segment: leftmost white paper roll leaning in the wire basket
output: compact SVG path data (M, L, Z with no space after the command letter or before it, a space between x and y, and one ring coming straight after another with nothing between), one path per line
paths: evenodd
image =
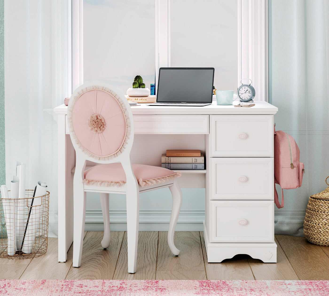
M8 237L7 253L9 256L14 256L17 250L15 237L15 203L14 200L9 199L8 189L6 185L1 185L0 190Z

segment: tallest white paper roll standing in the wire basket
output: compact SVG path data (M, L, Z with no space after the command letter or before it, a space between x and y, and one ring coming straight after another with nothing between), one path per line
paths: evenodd
M17 215L15 216L15 230L16 230L16 245L20 250L22 240L24 237L24 230L26 221L24 220L24 198L25 198L25 170L26 164L23 162L16 162L16 178L19 181L18 198L22 200L15 200L15 209ZM14 179L14 180L17 180Z

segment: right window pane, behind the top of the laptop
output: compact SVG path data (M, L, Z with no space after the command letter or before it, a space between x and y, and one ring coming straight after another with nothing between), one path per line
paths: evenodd
M216 89L236 90L238 2L170 2L170 66L214 67Z

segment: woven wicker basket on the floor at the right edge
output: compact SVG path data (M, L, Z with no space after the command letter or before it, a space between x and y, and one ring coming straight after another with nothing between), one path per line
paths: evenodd
M311 243L329 246L329 186L310 196L304 220L304 235Z

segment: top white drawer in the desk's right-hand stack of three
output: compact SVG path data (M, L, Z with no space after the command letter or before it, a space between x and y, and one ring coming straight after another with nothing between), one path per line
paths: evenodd
M273 115L211 115L210 139L211 157L273 157Z

